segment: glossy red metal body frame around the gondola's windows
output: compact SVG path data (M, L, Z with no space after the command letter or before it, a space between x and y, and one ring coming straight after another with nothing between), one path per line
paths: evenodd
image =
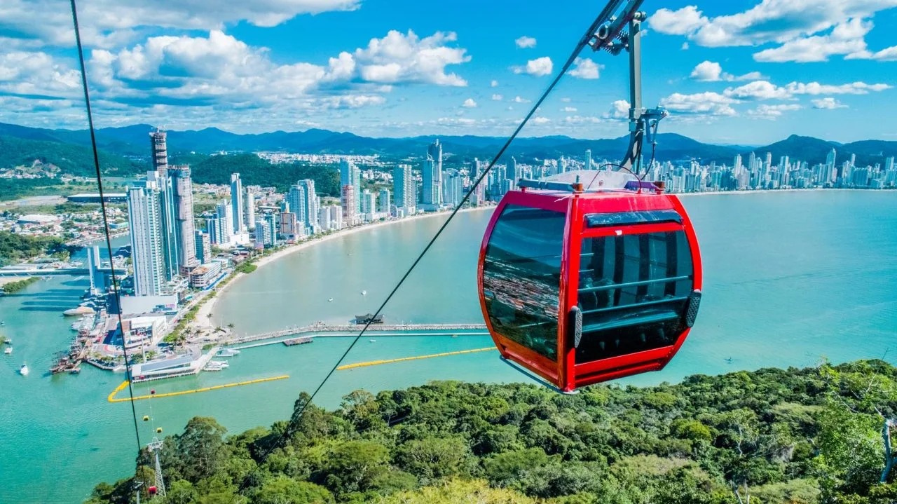
M508 204L517 204L529 208L540 208L566 215L563 234L561 284L559 285L558 303L558 360L552 361L543 355L528 349L498 333L486 311L483 294L483 264L486 249L489 245L492 230L501 212ZM596 229L584 229L585 215L588 213L621 213L631 211L675 210L682 217L678 223L640 223L621 226L610 226ZM576 363L576 349L568 340L568 314L577 306L579 290L579 256L583 238L642 234L646 232L665 232L684 230L685 237L692 250L693 289L701 289L701 253L698 239L692 223L685 213L684 206L676 196L658 195L649 192L601 191L591 193L567 193L558 191L511 191L505 195L492 214L480 247L480 260L477 268L480 307L483 318L501 355L530 369L563 391L571 391L593 383L614 378L623 378L646 371L663 369L685 341L689 329L678 335L675 343L644 352L624 354L600 361Z

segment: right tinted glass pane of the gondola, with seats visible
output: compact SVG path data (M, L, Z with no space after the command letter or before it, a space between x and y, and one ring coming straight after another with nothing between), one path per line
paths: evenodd
M577 362L675 343L694 285L683 231L583 239L581 254Z

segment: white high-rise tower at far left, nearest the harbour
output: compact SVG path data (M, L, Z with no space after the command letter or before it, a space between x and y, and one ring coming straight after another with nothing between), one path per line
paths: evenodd
M138 296L162 294L165 254L162 243L161 194L156 181L127 191L127 219L131 234L134 291Z

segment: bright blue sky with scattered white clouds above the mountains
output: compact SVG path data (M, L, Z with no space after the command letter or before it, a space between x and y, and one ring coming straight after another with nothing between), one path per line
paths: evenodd
M86 124L61 5L0 5L0 121ZM602 6L81 0L79 14L99 127L508 135ZM661 131L710 143L897 140L897 0L646 0L642 10L644 104L671 113ZM581 56L524 135L626 133L627 58Z

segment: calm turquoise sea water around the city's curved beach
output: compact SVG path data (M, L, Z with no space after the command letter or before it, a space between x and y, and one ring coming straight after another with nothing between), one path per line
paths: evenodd
M623 380L653 384L736 369L814 365L823 358L897 362L897 192L807 191L685 196L701 240L701 315L675 360L662 372ZM481 323L476 256L489 211L460 213L384 313L391 322ZM231 286L213 320L238 333L344 322L374 311L443 222L400 222L332 239L287 256ZM121 374L88 366L80 376L50 377L53 352L71 338L65 308L86 279L54 278L0 299L0 502L80 502L101 480L133 474L135 430L128 403L106 397ZM366 296L361 291L367 291ZM334 298L329 302L328 298ZM372 335L345 362L426 355L491 346L488 336ZM290 375L269 383L135 403L141 442L152 424L176 433L196 415L231 432L286 418L301 391L311 391L351 342L248 349L220 373L135 387L135 394L185 390ZM731 359L731 361L727 361ZM16 370L27 361L31 374ZM497 352L476 352L336 371L318 395L333 408L356 388L372 392L432 379L526 380ZM120 395L124 396L124 395ZM152 423L152 424L151 424Z

